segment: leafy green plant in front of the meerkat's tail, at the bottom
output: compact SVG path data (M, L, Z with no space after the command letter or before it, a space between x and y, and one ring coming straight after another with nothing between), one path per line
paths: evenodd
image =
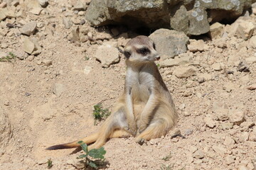
M97 169L100 162L105 161L104 155L106 154L106 151L104 147L100 147L99 149L91 149L88 151L88 147L85 144L85 142L79 141L78 144L82 147L82 150L85 152L85 154L81 154L78 157L78 159L84 159L86 167L90 166L94 169Z

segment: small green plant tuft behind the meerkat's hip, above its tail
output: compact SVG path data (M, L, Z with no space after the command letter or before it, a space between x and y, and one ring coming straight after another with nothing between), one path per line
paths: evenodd
M92 114L95 119L95 125L96 125L97 121L104 120L111 114L107 108L105 108L105 109L102 108L101 103L97 103L97 105L93 106L93 108L94 108L94 110L93 110Z

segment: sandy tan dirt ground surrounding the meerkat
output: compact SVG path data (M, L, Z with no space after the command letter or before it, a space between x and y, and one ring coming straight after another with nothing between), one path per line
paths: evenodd
M102 35L102 28L85 23L83 26L93 36L102 38L73 42L70 31L75 26L66 29L62 18L67 12L81 20L82 16L68 8L63 12L62 8L62 4L49 1L39 16L26 11L25 21L44 23L43 28L38 28L38 33L45 35L38 40L41 53L0 62L0 106L12 128L8 144L0 149L0 169L47 169L48 159L53 161L53 170L82 168L76 159L81 151L48 151L46 147L96 132L102 123L94 125L93 106L102 102L112 111L124 91L124 57L121 55L121 61L109 68L102 68L93 57L103 41L124 38ZM24 19L1 21L2 30L14 32L0 35L1 52L23 52L26 35L15 34L18 28L6 28L6 23L15 20ZM252 14L250 20L255 22L256 16ZM142 146L134 142L134 137L109 140L104 146L104 169L256 169L256 91L247 89L256 83L256 62L247 64L249 72L238 71L239 63L255 57L256 50L250 47L249 40L235 36L221 41L206 38L204 43L208 47L202 52L183 54L191 55L189 64L196 69L196 76L178 79L172 74L186 65L159 68L178 109L176 128ZM44 60L52 64L46 66ZM221 63L220 70L213 69L214 63ZM58 94L53 94L54 86ZM241 111L244 118L240 123L231 123L230 115L219 120L215 103L225 104L231 115ZM217 111L223 111L219 107ZM209 128L206 118L213 128ZM176 130L186 138L171 138Z

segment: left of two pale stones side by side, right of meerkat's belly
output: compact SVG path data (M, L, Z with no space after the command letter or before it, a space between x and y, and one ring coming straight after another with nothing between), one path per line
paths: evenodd
M225 103L213 103L213 113L217 120L228 120L228 105Z

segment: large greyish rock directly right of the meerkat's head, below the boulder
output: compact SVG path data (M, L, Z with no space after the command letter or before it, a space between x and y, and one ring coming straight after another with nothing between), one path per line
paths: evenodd
M156 44L156 51L160 55L167 55L170 58L186 52L188 37L176 30L159 29L149 35Z

